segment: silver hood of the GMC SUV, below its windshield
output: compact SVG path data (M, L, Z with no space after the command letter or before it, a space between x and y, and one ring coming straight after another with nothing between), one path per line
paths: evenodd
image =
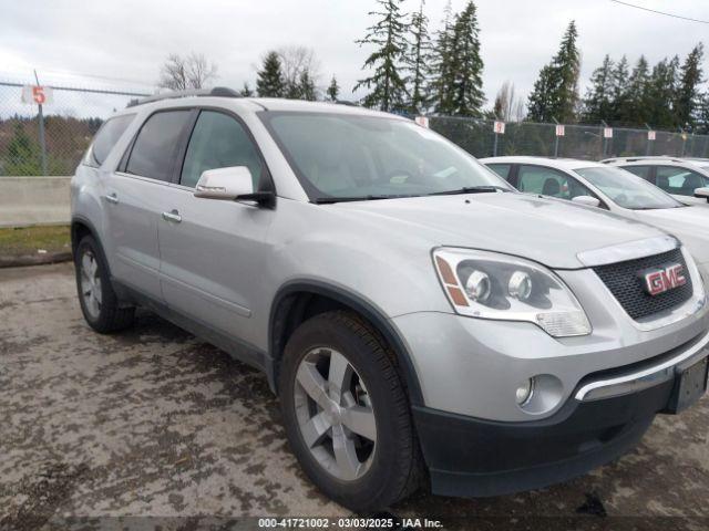
M431 247L483 249L549 268L578 269L580 251L662 236L658 229L594 207L525 194L429 196L329 205L381 230Z

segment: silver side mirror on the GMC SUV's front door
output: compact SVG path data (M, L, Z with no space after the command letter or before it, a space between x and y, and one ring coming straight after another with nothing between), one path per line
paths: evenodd
M207 169L203 171L195 197L226 201L256 201L268 208L276 206L276 195L271 191L254 191L254 178L246 166Z

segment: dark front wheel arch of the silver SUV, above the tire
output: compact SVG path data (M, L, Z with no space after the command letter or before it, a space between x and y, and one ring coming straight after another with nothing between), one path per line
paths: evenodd
M411 355L401 334L386 314L372 302L350 290L315 280L287 282L274 298L268 322L268 352L273 364L269 376L276 392L286 343L295 329L311 316L307 313L311 304L320 305L322 311L349 310L362 317L395 355L411 404L423 405L423 395ZM316 313L320 312L316 309Z

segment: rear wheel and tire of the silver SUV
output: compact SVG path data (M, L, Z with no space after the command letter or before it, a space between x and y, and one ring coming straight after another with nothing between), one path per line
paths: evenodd
M93 330L107 334L133 323L135 308L121 305L103 252L92 236L84 236L76 246L74 270L81 312Z

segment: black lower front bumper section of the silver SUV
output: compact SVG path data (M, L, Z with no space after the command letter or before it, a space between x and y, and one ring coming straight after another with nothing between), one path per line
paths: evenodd
M702 350L691 360L707 355ZM679 377L613 398L568 400L552 417L499 423L414 407L432 490L489 497L580 476L635 446L657 413L674 407Z

